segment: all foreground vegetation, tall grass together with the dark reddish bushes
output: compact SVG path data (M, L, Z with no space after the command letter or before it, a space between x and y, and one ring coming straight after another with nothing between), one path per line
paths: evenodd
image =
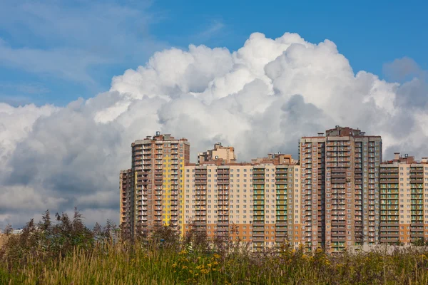
M46 212L22 234L8 234L0 284L428 284L424 247L329 255L284 244L252 253L196 229L180 239L155 227L132 241L114 239L115 232L111 222L88 229L77 211L54 221Z

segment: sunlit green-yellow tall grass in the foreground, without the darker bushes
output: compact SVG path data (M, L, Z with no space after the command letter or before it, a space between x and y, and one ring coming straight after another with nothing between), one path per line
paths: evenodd
M189 252L146 244L76 247L66 257L0 266L1 284L428 284L428 252L406 249L329 256L279 252Z

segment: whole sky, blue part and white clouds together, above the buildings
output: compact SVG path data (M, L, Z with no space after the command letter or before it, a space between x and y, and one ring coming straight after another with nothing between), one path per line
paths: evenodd
M302 135L334 125L382 135L386 159L427 156L427 7L0 0L0 102L41 106L0 104L0 227L46 207L78 207L89 224L117 221L129 146L157 130L188 138L192 160L214 142L235 147L240 161L277 151L297 157ZM255 32L267 38L253 35L238 56L210 49L236 51ZM310 44L325 39L345 57L329 41ZM190 43L210 48L165 51ZM123 75L156 51L150 66ZM105 92L114 76L115 92Z

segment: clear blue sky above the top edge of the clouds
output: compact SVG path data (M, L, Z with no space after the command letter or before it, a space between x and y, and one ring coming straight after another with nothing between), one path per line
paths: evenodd
M250 33L335 42L354 71L404 56L428 69L424 1L0 0L0 101L66 105L108 90L155 51L240 48Z

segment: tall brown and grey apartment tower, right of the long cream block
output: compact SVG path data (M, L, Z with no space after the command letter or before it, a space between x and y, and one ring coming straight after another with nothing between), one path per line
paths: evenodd
M336 126L301 138L299 156L307 248L339 251L379 242L382 138Z

